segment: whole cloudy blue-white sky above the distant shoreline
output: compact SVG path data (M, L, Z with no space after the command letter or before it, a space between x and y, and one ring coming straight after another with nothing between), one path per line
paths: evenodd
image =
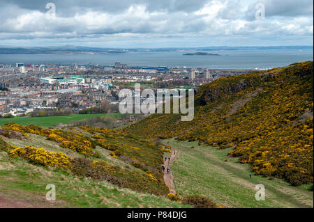
M0 45L313 45L313 0L0 0Z

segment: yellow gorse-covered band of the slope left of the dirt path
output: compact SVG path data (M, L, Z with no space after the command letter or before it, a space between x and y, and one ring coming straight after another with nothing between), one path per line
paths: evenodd
M86 126L61 130L35 125L22 126L10 122L3 126L3 131L9 145L2 150L6 150L10 157L21 157L33 164L63 168L74 175L110 181L119 187L142 193L162 196L169 193L161 170L163 147L153 141L113 129ZM29 136L30 134L42 136L47 141L57 143L59 149L63 148L80 156L73 158L72 155L60 152L47 143L36 147L38 143L33 143L33 136ZM19 140L30 140L31 143L16 147L9 141L12 138L15 138L15 144ZM120 161L109 163L108 156Z

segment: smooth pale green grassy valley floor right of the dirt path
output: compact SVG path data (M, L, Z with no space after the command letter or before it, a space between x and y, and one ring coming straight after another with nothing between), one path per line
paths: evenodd
M237 158L227 157L232 148L217 150L197 142L178 142L174 138L163 143L180 150L171 170L174 188L181 196L207 196L225 207L313 207L310 184L292 187L283 180L269 180L253 173L250 179L248 164L240 164ZM255 200L257 184L264 184L264 201Z

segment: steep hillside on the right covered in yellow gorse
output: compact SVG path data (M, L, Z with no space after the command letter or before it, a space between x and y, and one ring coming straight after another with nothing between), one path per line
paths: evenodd
M257 175L313 183L313 62L218 79L197 88L195 117L154 114L125 132L199 141L251 164Z

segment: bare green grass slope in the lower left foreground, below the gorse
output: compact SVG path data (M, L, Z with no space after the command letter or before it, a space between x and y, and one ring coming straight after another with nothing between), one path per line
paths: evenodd
M55 201L45 200L47 184L56 186ZM10 200L15 207L190 207L162 196L12 159L6 152L0 152L0 198Z

